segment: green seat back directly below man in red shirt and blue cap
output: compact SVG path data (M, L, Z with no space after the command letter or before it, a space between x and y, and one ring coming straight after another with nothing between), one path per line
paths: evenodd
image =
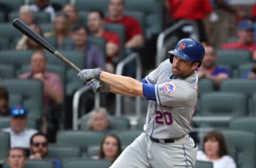
M250 63L251 52L239 49L219 49L217 50L217 64L230 65L237 69L240 64Z

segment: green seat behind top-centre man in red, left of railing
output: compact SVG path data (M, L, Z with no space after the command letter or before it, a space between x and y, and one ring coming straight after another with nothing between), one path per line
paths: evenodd
M151 38L163 30L163 1L155 0L125 0L127 11L140 11L145 14L145 37Z

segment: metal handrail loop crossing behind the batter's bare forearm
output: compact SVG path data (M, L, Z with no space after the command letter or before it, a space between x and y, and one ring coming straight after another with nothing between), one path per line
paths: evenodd
M119 62L116 66L116 74L122 75L123 73L123 69L124 66L135 60L136 61L136 74L135 74L135 78L137 80L141 79L141 73L142 73L142 65L141 65L141 61L140 61L140 57L138 53L132 53L129 56L127 56L126 58L124 58L124 60L122 60L121 62ZM122 109L122 101L121 101L122 96L116 94L116 116L121 116L121 109ZM135 112L136 115L140 116L141 114L141 98L139 96L136 97L135 100Z

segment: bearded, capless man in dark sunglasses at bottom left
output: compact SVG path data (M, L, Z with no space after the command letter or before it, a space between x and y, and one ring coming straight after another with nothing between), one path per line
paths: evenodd
M61 162L56 158L47 158L48 139L44 133L35 133L30 138L30 159L49 159L55 164L55 168L61 168Z

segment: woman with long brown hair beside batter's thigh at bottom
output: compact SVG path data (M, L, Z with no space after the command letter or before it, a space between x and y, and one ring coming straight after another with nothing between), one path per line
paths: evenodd
M122 147L119 138L114 134L107 134L101 141L99 155L92 158L114 162L121 152Z

